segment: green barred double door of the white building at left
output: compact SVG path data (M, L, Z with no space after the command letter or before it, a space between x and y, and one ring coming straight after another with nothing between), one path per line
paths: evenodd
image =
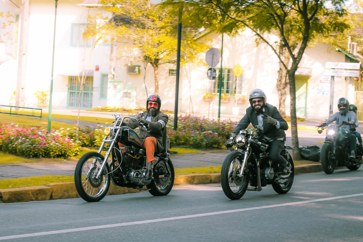
M68 80L67 108L78 108L80 82L77 76L70 76ZM81 108L92 108L93 77L86 77L81 94Z

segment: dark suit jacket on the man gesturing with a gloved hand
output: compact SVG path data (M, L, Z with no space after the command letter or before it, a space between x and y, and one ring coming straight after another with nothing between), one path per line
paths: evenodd
M289 126L287 125L286 121L282 118L277 108L271 104L266 103L264 113L276 119L280 123L280 128L277 128L273 124L264 121L262 124L264 128L263 135L271 139L279 139L286 141L286 134L284 130L287 130ZM240 131L247 128L250 123L253 125L254 128L258 126L257 114L254 111L254 108L252 107L248 107L246 109L246 115L243 116L241 121L238 123L236 130L234 130L234 132L236 132L236 134L239 134Z

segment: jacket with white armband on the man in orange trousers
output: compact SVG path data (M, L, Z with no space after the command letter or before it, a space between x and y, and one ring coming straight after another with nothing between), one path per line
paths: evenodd
M147 118L147 111L143 112L142 114L139 114L138 116L138 119L146 120L146 118ZM166 124L168 123L168 120L169 120L168 115L158 111L158 113L155 116L151 117L151 121L149 122L147 131L140 129L139 137L141 139L141 142L144 143L146 137L155 137L156 141L158 141L158 149L159 151L162 151L164 149L163 134L166 131ZM125 126L135 129L139 127L139 123L132 121L125 122Z

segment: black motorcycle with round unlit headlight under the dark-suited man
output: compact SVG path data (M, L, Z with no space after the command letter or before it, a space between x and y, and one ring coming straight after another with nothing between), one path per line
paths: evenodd
M293 148L285 145L281 151L281 155L291 164L290 176L282 178L282 168L269 158L269 141L258 136L257 129L249 132L241 130L234 136L235 148L229 148L231 153L223 161L221 185L224 194L231 200L240 199L246 190L259 192L262 186L268 184L272 185L275 192L285 194L293 185L294 161L287 151Z

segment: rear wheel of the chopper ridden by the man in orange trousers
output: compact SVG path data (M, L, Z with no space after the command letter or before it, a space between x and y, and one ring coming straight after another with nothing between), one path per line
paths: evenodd
M171 160L167 159L167 166L171 174L167 175L167 169L163 160L159 160L154 164L154 180L146 187L152 196L165 196L170 193L174 185L174 165Z

